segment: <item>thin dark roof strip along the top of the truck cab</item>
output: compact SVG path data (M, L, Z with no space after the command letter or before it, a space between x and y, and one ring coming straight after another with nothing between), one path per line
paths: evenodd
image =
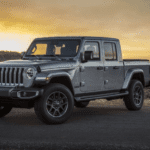
M43 37L43 38L36 38L35 40L51 40L51 39L85 39L85 40L112 40L112 41L119 41L117 38L110 38L110 37L94 37L94 36L61 36L61 37Z

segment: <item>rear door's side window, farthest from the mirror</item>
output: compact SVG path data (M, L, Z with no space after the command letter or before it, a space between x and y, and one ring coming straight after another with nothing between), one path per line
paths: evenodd
M105 60L117 60L116 44L104 43Z

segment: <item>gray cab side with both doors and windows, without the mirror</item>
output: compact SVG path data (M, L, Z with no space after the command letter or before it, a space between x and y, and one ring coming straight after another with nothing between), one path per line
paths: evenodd
M81 91L120 90L124 82L123 60L119 40L87 38L81 52L93 51L93 59L81 61Z

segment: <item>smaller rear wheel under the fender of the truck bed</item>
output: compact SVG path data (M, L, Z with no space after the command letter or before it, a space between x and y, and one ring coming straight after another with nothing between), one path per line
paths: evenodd
M129 95L124 97L124 102L128 110L140 110L143 106L144 91L139 80L132 80L128 88Z

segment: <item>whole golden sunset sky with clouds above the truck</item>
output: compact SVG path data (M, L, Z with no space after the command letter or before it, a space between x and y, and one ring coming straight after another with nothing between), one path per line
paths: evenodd
M118 38L123 58L150 60L150 0L0 0L0 50L72 35Z

